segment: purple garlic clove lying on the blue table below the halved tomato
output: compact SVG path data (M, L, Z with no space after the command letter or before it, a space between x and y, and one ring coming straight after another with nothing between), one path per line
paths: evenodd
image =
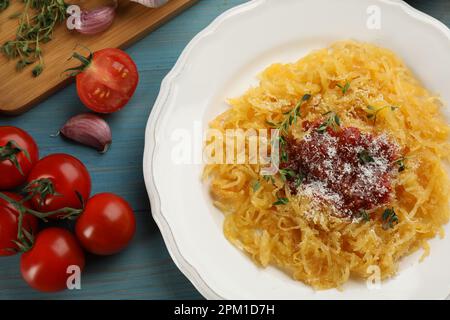
M60 133L70 140L95 148L101 153L108 151L112 143L108 123L93 113L82 113L70 118L61 128Z

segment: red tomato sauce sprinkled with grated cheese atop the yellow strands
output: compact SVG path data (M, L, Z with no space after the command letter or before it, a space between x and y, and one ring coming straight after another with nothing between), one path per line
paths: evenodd
M327 128L305 122L302 140L287 140L287 161L281 169L293 194L303 193L332 205L336 215L351 217L386 204L392 192L398 146L386 135L363 133L358 128ZM298 183L301 177L301 183Z

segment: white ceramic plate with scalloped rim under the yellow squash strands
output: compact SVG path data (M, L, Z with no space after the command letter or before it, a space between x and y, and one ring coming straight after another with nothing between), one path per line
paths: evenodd
M206 298L443 299L449 294L450 237L431 241L431 256L423 263L418 255L404 259L398 275L379 289L350 281L343 291L315 292L275 268L260 269L224 238L222 213L200 180L203 165L173 161L183 134L191 136L190 156L201 155L208 121L226 110L227 97L256 83L265 67L345 39L392 49L448 105L449 29L392 0L250 1L198 34L164 79L146 131L145 181L173 260Z

